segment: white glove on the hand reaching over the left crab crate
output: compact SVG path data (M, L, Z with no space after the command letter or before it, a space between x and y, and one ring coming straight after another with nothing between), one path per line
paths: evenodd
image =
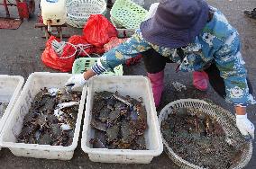
M84 74L78 74L71 76L65 85L66 87L69 87L71 90L74 90L79 87L83 87L86 83L87 80L84 78Z

